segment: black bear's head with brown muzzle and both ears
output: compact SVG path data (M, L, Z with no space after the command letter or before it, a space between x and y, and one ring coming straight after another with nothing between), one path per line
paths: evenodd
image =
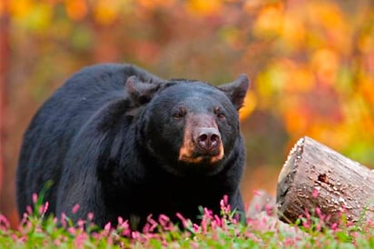
M144 105L140 143L169 173L217 174L241 146L238 111L248 86L246 75L218 87L189 80L147 84L130 77L127 91Z

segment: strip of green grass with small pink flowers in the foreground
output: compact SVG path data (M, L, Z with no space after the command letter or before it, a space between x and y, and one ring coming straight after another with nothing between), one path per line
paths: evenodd
M98 229L92 214L75 225L64 216L57 225L55 217L44 217L46 208L29 209L18 229L0 214L0 248L374 248L374 223L329 227L324 216L306 215L288 225L264 212L243 225L222 205L221 216L202 210L201 224L181 215L182 230L164 215L150 216L140 233L121 218L115 227Z

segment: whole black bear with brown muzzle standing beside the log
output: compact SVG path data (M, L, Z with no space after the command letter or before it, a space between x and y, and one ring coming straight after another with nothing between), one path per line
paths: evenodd
M119 216L136 226L149 214L175 221L180 213L196 222L199 206L219 214L223 195L243 212L238 110L248 86L246 75L215 87L163 80L134 65L84 68L25 132L16 175L19 214L48 181L47 214L64 213L74 222L89 213L100 226Z

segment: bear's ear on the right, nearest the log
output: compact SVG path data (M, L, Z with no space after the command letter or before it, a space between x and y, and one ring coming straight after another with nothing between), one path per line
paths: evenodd
M232 104L239 110L244 103L249 85L250 81L248 80L248 76L243 74L235 81L226 85L220 85L218 88L231 99Z

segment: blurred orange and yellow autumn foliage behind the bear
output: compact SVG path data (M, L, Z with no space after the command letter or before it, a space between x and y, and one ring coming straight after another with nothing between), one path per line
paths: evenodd
M101 62L213 84L250 75L241 110L247 202L251 189L275 188L290 146L305 134L374 166L372 1L3 0L0 15L9 41L1 44L0 212L14 220L26 125L64 79Z

